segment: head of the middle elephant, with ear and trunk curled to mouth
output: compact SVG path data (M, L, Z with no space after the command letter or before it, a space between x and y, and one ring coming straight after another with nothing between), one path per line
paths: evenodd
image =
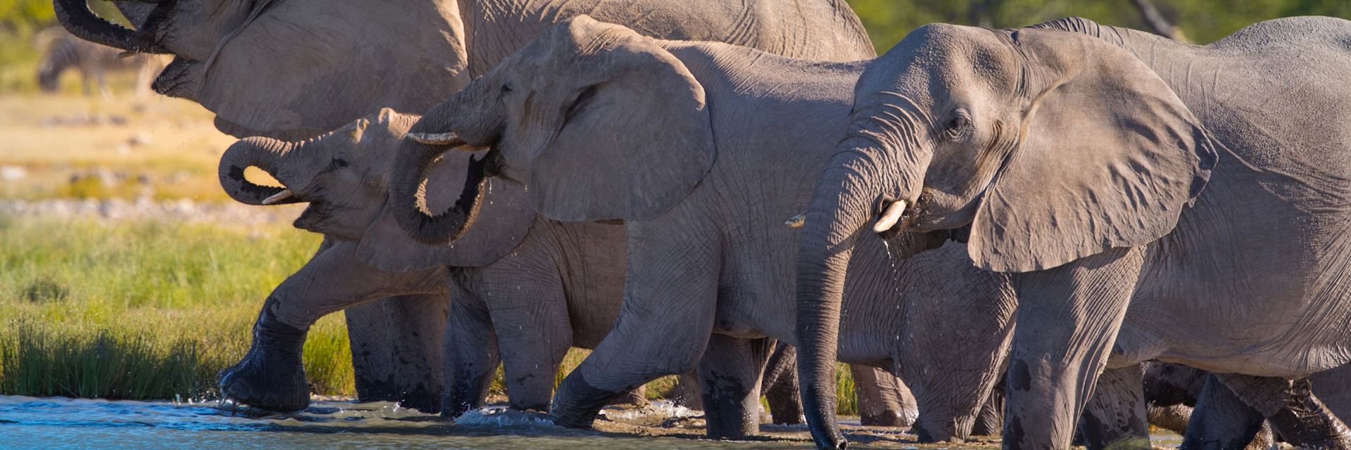
M661 124L661 126L653 126ZM704 89L655 39L577 16L432 108L399 151L389 207L424 243L469 226L428 215L428 162L492 146L500 173L530 186L544 216L642 220L685 197L713 164Z

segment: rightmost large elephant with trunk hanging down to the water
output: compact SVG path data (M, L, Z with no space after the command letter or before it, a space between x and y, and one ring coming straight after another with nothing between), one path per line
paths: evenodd
M1351 361L1351 89L1331 76L1351 70L1348 39L1332 18L1208 46L1084 19L929 24L874 59L798 241L816 445L844 445L827 366L869 224L961 235L975 266L1011 277L1009 449L1067 447L1098 374L1148 359L1231 374L1239 404L1296 426L1282 411L1313 397L1289 380Z

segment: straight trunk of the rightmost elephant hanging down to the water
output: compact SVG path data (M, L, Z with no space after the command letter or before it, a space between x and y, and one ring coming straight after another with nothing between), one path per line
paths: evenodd
M838 154L816 185L798 236L797 370L807 424L820 449L846 445L835 418L835 353L854 236L878 193L877 178L865 173L875 172L863 153Z

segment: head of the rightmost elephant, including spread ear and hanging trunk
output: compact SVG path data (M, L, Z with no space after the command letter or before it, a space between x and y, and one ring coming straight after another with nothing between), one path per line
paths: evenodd
M834 362L861 228L967 228L971 259L996 272L1144 245L1209 178L1198 123L1132 54L1079 34L929 24L871 62L798 241L798 370L817 445L844 443Z

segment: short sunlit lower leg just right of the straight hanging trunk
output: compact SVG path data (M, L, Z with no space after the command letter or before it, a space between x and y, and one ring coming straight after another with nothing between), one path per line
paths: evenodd
M907 427L913 424L915 397L889 372L850 365L854 395L858 397L859 422L873 427Z

